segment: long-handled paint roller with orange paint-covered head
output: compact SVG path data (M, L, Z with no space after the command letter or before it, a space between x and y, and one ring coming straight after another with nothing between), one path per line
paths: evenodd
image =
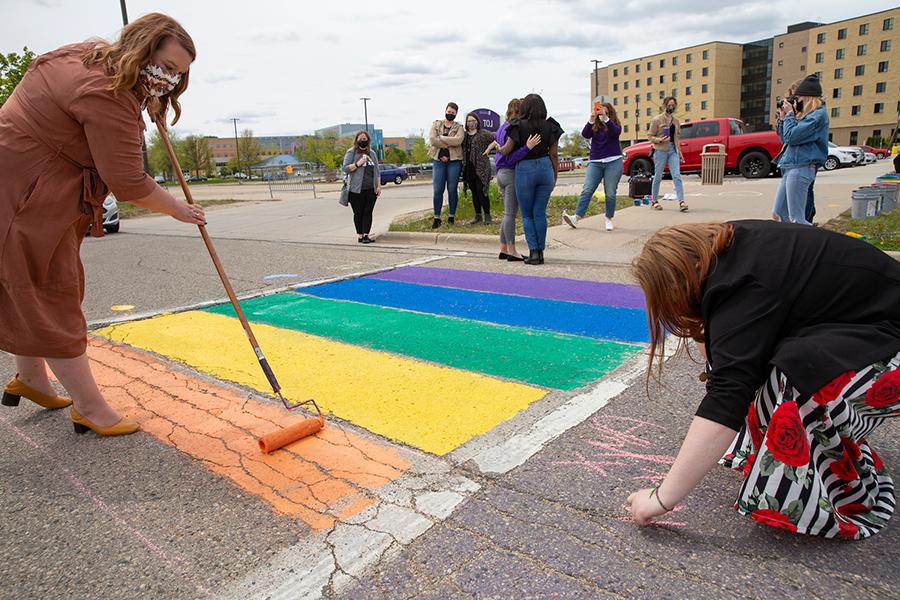
M169 140L169 133L166 130L166 126L163 124L162 119L154 118L154 121L156 123L156 129L157 131L159 131L159 137L166 148L166 154L169 155L169 161L172 163L172 168L175 169L175 175L178 177L178 183L181 184L181 189L184 192L184 197L187 200L188 204L194 204L194 197L191 195L191 190L188 187L187 182L184 180L184 174L181 172L181 165L178 163L178 157L175 156L175 150L174 148L172 148L172 142ZM302 421L294 423L293 425L285 427L284 429L280 429L262 436L259 439L260 450L268 454L269 452L278 450L279 448L282 448L292 442L296 442L297 440L318 433L322 430L323 427L325 427L325 417L322 415L322 411L321 409L319 409L319 405L316 404L316 401L312 398L310 398L309 400L304 400L302 402L289 402L281 394L281 385L278 383L278 379L275 378L275 373L272 371L272 367L269 366L269 362L266 360L265 355L259 348L259 342L256 341L256 336L253 335L253 330L250 329L250 322L247 321L247 316L244 314L240 302L238 302L237 296L234 293L234 288L231 287L231 282L228 280L228 276L225 274L225 269L222 267L222 263L219 261L219 255L216 253L216 249L213 246L212 239L209 237L209 233L206 231L206 226L197 225L197 227L200 229L200 236L203 238L203 243L206 244L206 249L209 251L209 257L212 259L213 265L215 265L216 267L216 272L219 274L219 279L222 280L222 285L225 287L225 292L228 294L228 299L231 301L231 306L234 308L234 312L237 314L237 317L244 328L244 333L247 334L247 339L250 341L250 345L253 347L253 353L256 355L256 359L259 361L259 366L263 370L263 373L266 375L266 379L269 380L269 385L272 386L272 392L278 397L279 400L281 400L281 403L287 410L293 410L295 408L308 405L312 405L312 407L316 410L316 417L303 419Z

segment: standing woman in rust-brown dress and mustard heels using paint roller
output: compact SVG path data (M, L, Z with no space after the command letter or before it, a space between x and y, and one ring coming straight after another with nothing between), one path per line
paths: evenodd
M123 435L138 424L103 399L85 350L79 248L91 226L103 235L103 200L204 223L203 209L175 199L143 171L145 108L175 121L178 96L196 58L188 33L172 18L146 15L115 43L64 46L31 64L0 107L0 350L15 355L16 377L3 394L45 408L74 402L75 431ZM57 396L49 364L71 399Z

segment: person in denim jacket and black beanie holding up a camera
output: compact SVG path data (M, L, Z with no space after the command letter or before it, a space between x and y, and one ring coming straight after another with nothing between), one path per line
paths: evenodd
M822 84L815 75L788 89L782 100L778 135L783 144L775 163L781 184L775 193L772 218L783 223L811 225L806 216L809 188L816 171L828 158L828 114L822 102Z

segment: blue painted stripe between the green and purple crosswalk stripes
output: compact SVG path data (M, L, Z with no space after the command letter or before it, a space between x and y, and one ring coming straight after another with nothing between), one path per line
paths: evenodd
M299 288L294 291L319 298L350 300L591 338L625 342L647 342L650 339L646 313L634 308L365 278Z

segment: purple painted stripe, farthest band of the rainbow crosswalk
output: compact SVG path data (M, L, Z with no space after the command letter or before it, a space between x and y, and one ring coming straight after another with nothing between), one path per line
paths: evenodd
M372 279L401 281L420 285L510 294L528 298L600 304L622 308L644 308L644 293L636 285L600 283L561 277L507 275L436 267L403 267L369 275Z

